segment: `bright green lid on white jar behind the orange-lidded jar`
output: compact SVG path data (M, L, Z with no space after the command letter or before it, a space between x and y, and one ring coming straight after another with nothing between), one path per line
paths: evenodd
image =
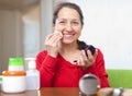
M16 58L9 58L9 65L23 65L24 60L23 58L16 57Z

